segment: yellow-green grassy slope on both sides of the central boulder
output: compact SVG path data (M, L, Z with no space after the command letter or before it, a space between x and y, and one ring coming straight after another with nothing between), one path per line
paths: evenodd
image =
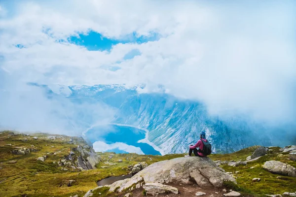
M82 197L88 190L96 187L96 181L109 176L118 176L128 174L128 165L134 165L139 162L146 162L152 164L158 161L173 159L177 157L183 157L184 154L171 154L165 156L149 156L149 155L137 155L137 154L114 154L114 153L98 153L103 162L114 163L115 165L108 165L104 163L97 164L97 169L87 170L81 172L64 172L56 164L52 164L53 161L58 161L66 155L69 155L71 148L77 145L68 144L68 136L63 136L63 140L48 140L46 134L34 134L38 136L37 140L32 136L23 136L21 134L16 136L8 136L8 132L0 133L0 196L13 197L13 196L25 196L28 197L69 197L78 195ZM9 138L8 138L9 137ZM27 138L28 141L22 141ZM78 138L72 137L75 141ZM13 146L5 146L5 144L11 143ZM83 143L83 142L81 142ZM21 146L30 148L31 144L35 148L40 149L38 152L33 152L30 155L13 155L10 153L13 147ZM47 145L47 146L46 146ZM51 147L54 146L54 147ZM241 151L225 154L225 155L211 155L213 160L244 160L247 156L255 150L256 147L250 147ZM268 160L278 160L287 164L291 164L296 167L296 162L292 162L288 159L287 154L279 154L279 148L273 148L273 153L268 154L258 161L247 164L246 166L229 167L223 165L226 171L235 172L240 171L235 176L237 177L237 183L242 189L249 189L254 195L262 194L282 194L283 192L296 192L296 178L283 177L283 179L277 179L278 175L271 174L264 170L261 165ZM45 155L49 152L61 151L56 156L50 155L44 163L36 161L37 157ZM112 159L108 157L114 154ZM151 158L151 160L150 160ZM123 160L122 163L118 163L118 160ZM7 162L16 160L16 164L8 164ZM102 168L102 166L108 166ZM256 166L254 169L250 169L251 166ZM261 173L262 172L262 173ZM259 175L261 173L261 175ZM253 178L261 178L260 182L252 182ZM68 187L65 182L68 180L75 180L72 187ZM293 190L294 189L294 190ZM101 189L101 190L104 190ZM101 191L100 190L100 191ZM102 193L103 191L101 191Z

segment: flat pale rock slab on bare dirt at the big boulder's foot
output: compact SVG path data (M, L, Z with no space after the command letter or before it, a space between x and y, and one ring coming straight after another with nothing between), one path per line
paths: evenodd
M146 194L158 195L166 192L171 192L173 194L178 194L178 189L168 185L162 185L160 183L147 183L143 186Z

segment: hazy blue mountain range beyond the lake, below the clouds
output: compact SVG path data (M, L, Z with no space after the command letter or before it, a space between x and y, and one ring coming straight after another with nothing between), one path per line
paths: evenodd
M76 105L105 105L113 111L111 123L147 129L148 140L158 146L162 154L186 152L188 145L199 139L200 131L206 131L216 153L229 153L255 144L287 145L291 142L289 140L293 140L285 136L291 128L268 128L243 115L228 118L211 116L203 103L165 93L139 94L137 90L144 87L60 86L53 92L43 86L48 90L49 98L71 100L74 112L67 119L74 128L87 129L99 121L89 108Z

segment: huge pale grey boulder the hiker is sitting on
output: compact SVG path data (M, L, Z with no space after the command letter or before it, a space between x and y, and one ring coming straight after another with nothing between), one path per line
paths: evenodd
M218 167L208 157L188 157L166 160L149 165L132 178L116 181L107 187L110 192L121 192L132 188L134 184L148 183L185 183L193 184L195 180L199 187L222 187L223 181L235 179Z

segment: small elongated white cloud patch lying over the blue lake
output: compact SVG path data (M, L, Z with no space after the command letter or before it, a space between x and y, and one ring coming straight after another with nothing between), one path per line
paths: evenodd
M93 143L94 150L96 152L106 152L113 149L119 149L128 153L137 153L139 155L144 155L143 151L139 147L128 145L122 142L115 142L112 144L107 144L103 141L96 141Z

